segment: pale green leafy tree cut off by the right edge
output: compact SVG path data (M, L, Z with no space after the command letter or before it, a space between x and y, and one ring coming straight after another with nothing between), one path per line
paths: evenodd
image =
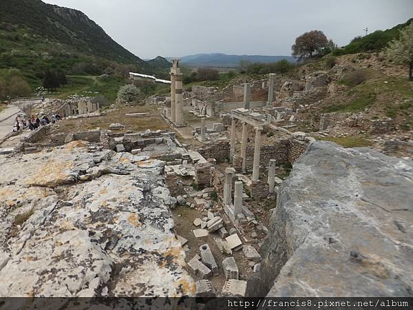
M413 81L413 23L400 31L399 39L391 41L385 52L388 59L409 66L409 79Z

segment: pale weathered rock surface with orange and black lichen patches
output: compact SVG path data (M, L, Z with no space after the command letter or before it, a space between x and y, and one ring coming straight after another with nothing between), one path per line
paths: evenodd
M162 161L75 141L0 156L0 296L195 295Z

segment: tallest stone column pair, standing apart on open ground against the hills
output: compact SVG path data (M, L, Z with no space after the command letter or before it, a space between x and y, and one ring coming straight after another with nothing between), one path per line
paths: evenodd
M182 73L178 59L173 59L171 68L171 121L177 125L184 125L184 111L182 98Z

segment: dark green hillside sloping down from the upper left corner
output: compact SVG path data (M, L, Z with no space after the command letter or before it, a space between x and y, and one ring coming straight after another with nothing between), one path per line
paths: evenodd
M0 68L18 68L36 81L45 68L67 74L102 74L114 63L156 74L167 61L145 62L116 43L83 12L40 0L0 2Z

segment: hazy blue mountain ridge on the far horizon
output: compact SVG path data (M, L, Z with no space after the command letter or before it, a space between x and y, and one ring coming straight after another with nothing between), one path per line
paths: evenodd
M222 53L195 54L180 57L181 63L198 67L236 67L241 60L252 63L275 63L286 59L292 63L296 62L293 56L262 56L262 55L227 55Z

